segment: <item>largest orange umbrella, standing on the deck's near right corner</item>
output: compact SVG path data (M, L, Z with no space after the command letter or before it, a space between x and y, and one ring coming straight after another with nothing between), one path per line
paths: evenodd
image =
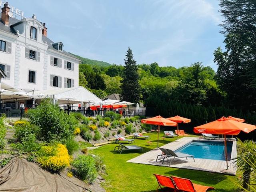
M229 118L222 117L210 123L206 123L197 127L194 127L195 133L210 133L210 134L222 134L224 135L224 145L225 145L225 158L228 170L228 152L227 152L227 141L226 135L238 135L241 131L249 133L256 129L255 125L242 123ZM230 171L224 171L230 172Z

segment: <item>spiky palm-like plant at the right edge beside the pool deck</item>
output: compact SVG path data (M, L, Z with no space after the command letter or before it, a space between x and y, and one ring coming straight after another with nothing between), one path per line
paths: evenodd
M242 142L238 139L238 145L240 146L240 155L236 157L236 166L239 170L243 172L242 183L240 189L245 191L250 191L251 179L256 180L255 176L251 178L251 173L256 170L256 142L252 140L246 140ZM251 188L255 189L255 186ZM255 190L253 190L255 191Z

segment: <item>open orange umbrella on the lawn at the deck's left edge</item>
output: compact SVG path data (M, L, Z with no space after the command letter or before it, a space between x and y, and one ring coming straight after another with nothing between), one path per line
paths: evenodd
M173 122L171 120L168 120L166 118L163 118L161 116L155 116L148 119L142 119L142 123L151 124L151 125L157 125L158 126L158 134L157 134L157 148L158 148L158 140L159 140L159 132L160 132L160 126L177 126L176 122Z

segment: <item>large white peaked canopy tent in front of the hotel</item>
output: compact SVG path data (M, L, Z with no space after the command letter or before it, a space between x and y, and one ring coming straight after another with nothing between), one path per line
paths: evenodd
M32 92L30 92L30 94L32 94ZM34 95L41 95L41 98L50 97L57 99L58 104L101 102L100 98L82 86L46 91L34 91Z

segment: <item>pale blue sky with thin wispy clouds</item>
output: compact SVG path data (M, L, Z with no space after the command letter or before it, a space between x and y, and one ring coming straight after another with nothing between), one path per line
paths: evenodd
M124 64L128 47L138 64L217 69L213 52L224 48L218 0L8 0L46 23L47 36L64 50Z

